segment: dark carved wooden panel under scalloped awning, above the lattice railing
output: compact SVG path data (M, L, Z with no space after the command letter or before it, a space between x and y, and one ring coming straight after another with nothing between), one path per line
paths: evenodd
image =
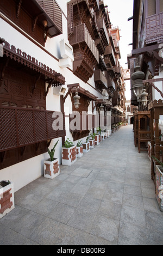
M3 63L1 62L0 71L3 69ZM38 78L38 74L30 74L10 60L0 88L0 105L46 109L45 78Z

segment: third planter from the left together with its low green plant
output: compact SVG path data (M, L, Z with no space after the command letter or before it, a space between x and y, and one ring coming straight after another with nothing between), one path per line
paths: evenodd
M69 138L62 145L62 165L71 166L77 161L77 146L73 145Z

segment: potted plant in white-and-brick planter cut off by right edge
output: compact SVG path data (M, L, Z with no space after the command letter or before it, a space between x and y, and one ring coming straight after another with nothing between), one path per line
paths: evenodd
M155 188L156 199L159 204L160 211L163 211L163 163L155 156L152 156L160 165L155 166Z

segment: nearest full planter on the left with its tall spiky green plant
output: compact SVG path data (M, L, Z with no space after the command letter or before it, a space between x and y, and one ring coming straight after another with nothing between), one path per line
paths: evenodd
M58 140L59 141L59 140ZM44 176L45 178L54 179L60 174L59 159L54 158L55 147L58 144L55 143L53 149L48 149L49 159L44 161Z

